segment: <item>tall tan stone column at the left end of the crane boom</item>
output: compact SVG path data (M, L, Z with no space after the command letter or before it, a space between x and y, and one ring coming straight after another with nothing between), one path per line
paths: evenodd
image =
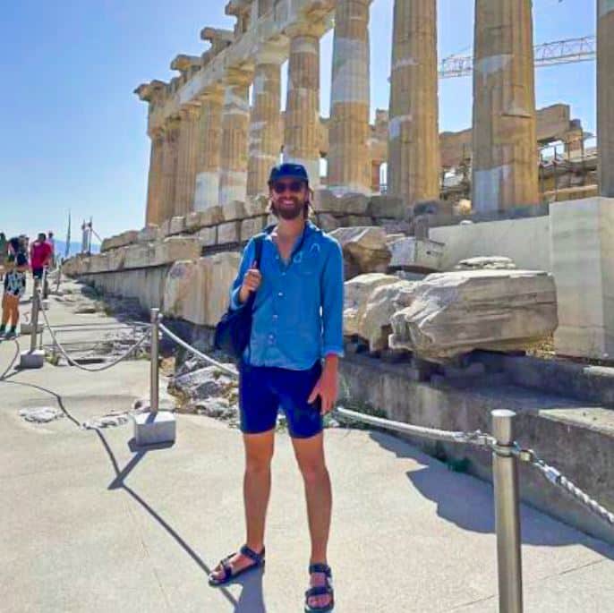
M438 78L437 0L396 0L388 192L410 207L439 198Z

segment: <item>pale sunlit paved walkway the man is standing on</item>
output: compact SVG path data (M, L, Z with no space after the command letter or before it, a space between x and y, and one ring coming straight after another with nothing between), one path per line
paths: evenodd
M53 298L49 316L104 320ZM0 344L0 374L13 352ZM147 396L148 377L149 362L133 361L99 374L47 364L0 382L0 609L303 611L309 541L285 434L266 573L213 590L209 569L243 541L240 433L180 415L175 446L143 452L130 425L80 429ZM19 416L38 406L66 417L40 425ZM328 430L327 449L337 613L497 610L489 484L379 433ZM527 612L614 610L614 549L528 507L523 540Z

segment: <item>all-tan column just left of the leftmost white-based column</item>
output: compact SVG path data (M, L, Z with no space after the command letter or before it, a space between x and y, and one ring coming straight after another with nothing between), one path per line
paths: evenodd
M198 162L199 116L200 109L198 106L185 106L181 109L175 215L185 216L192 211Z

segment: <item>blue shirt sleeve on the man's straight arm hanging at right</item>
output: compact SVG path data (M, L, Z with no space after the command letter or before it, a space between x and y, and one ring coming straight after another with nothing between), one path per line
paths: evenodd
M321 289L322 357L330 354L343 357L344 271L343 253L337 241L328 252Z

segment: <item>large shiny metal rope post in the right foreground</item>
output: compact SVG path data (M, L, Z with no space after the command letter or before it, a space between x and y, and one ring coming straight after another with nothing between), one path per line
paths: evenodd
M516 457L506 453L514 445L514 418L507 410L492 411L492 434L501 451L492 454L495 521L499 566L499 613L522 613L523 571L520 552L520 506Z

